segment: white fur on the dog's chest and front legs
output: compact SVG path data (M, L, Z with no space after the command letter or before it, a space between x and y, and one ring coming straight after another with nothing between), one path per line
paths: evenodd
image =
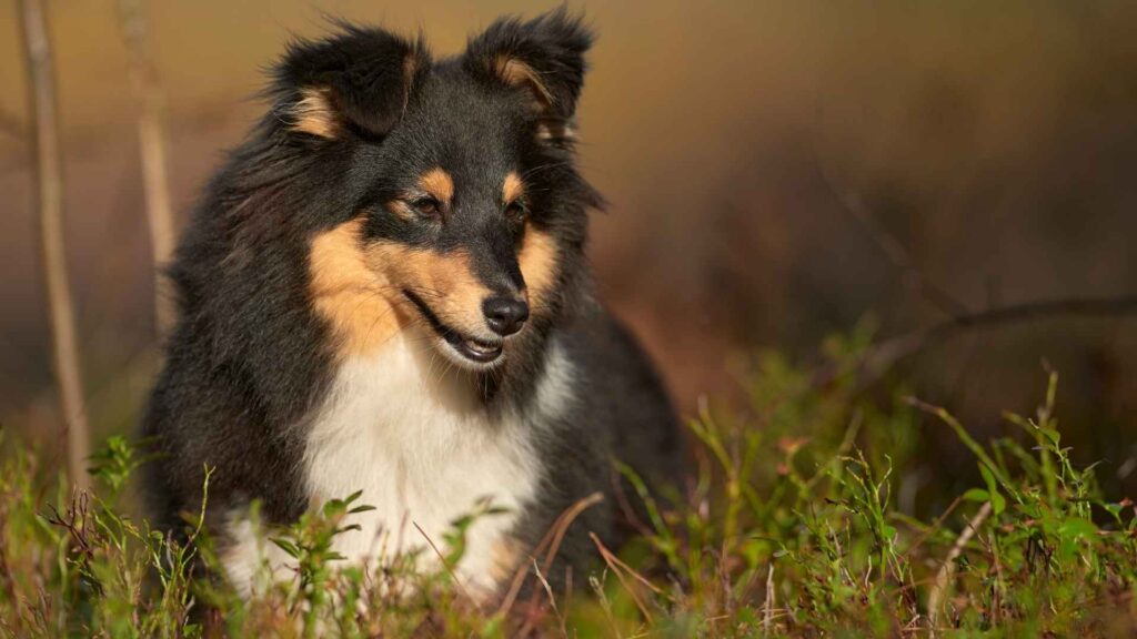
M305 478L313 505L362 490L358 503L375 509L350 515L347 523L362 530L338 536L335 549L372 567L416 549L431 562L426 537L445 551L454 520L489 499L507 512L473 523L456 572L470 588L491 589L508 570L497 565L498 545L534 498L532 440L572 397L571 370L555 346L547 364L533 409L495 420L428 343L396 337L374 356L346 362L310 424ZM285 557L247 521L233 523L226 569L248 591L266 558L280 574Z

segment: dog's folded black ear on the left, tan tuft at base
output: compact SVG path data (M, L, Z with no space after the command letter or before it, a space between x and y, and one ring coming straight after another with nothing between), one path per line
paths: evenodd
M430 65L421 38L341 24L331 38L289 44L275 68L274 115L290 131L317 138L383 136Z

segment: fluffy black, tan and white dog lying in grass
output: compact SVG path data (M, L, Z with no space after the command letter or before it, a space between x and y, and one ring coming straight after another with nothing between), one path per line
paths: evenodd
M454 572L491 599L599 492L559 546L563 584L594 561L590 533L629 529L638 496L613 459L653 490L678 482L672 405L586 259L603 204L574 150L591 43L563 9L441 59L340 23L275 66L168 268L180 317L142 424L156 522L200 509L209 468L206 524L242 592L287 574L272 526L362 491L373 509L334 549L372 567L429 563L456 518L490 511Z

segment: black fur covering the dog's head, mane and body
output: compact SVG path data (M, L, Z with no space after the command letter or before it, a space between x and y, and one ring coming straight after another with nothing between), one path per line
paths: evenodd
M252 499L275 523L308 507L302 429L326 393L335 348L309 298L314 235L370 211L368 240L462 247L483 281L517 284L521 233L489 186L462 191L446 225L384 214L383 202L435 165L474 186L521 167L531 224L559 247L555 294L515 338L521 356L478 381L491 410L524 406L553 337L580 377L580 401L542 440L545 486L520 524L522 540L536 543L562 511L603 491L606 503L571 529L562 551L565 565L581 566L592 555L589 530L614 540L613 457L678 481L681 438L666 395L632 338L594 300L587 211L600 199L578 173L571 140L536 135L549 123L571 124L591 40L561 10L495 23L465 55L440 61L421 41L347 25L289 47L267 92L269 111L205 190L169 269L181 317L143 422L163 454L147 486L161 525L180 530L180 513L198 508L205 466L216 470L210 524ZM538 73L548 103L534 110L529 88L495 75L503 53ZM327 90L342 118L333 139L294 130L296 105L312 86Z

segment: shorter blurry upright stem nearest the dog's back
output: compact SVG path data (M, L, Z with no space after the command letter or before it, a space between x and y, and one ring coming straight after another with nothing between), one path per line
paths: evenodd
M131 85L139 101L142 189L155 265L155 321L158 337L163 338L168 334L175 318L173 292L161 273L174 254L174 214L169 199L166 135L163 126L165 100L153 61L150 23L142 0L119 0L119 14L123 41L128 53Z

